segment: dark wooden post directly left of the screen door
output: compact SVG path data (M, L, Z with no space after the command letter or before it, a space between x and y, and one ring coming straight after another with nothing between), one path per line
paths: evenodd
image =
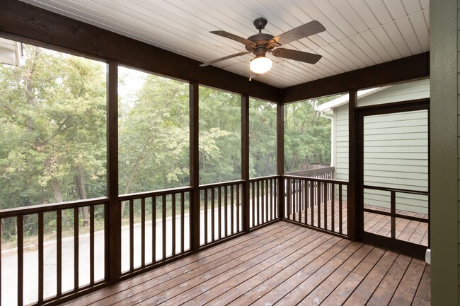
M347 190L347 235L352 240L360 240L360 229L362 224L361 218L357 218L357 213L360 209L358 207L357 191L358 186L358 170L360 165L360 156L358 152L359 143L357 141L357 90L350 90L348 103L348 190ZM362 222L361 222L362 223Z

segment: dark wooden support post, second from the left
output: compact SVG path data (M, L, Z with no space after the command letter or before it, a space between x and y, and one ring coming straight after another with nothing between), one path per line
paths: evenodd
M190 199L190 247L192 251L200 248L200 117L198 83L190 83L190 185L193 187Z

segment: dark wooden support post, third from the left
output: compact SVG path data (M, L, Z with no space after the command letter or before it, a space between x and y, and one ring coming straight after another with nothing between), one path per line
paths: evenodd
M241 95L241 179L243 183L243 230L249 232L249 96ZM254 213L254 211L253 211Z

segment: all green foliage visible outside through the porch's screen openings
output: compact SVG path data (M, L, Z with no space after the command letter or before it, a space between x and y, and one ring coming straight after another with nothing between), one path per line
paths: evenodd
M24 52L25 66L0 65L0 209L105 196L105 64L29 45ZM120 194L188 186L188 83L122 67L119 74ZM200 184L239 180L241 97L206 87L199 94ZM330 122L314 113L321 102L285 108L287 171L330 162ZM250 175L274 175L277 107L251 99L249 111ZM62 213L64 230L71 230L74 211ZM97 206L96 220L103 216ZM78 218L86 224L87 208ZM26 236L36 233L36 219L25 216ZM45 233L52 233L55 213L45 213L44 221ZM16 219L2 220L2 229L13 239Z

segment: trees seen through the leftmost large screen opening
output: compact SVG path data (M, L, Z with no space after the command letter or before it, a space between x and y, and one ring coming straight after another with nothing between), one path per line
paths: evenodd
M24 53L25 66L0 66L0 207L105 195L104 65Z

